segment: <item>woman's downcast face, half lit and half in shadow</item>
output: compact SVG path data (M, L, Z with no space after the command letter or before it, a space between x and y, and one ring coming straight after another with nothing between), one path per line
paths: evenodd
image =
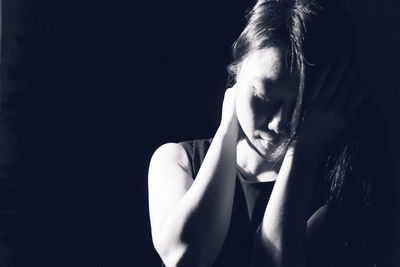
M271 161L285 153L298 93L297 75L287 70L284 53L277 47L255 51L236 77L239 123L250 147Z

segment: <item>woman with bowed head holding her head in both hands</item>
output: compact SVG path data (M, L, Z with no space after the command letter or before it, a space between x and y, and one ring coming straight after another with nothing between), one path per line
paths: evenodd
M150 219L164 264L373 265L374 170L361 168L372 165L368 115L356 112L349 25L329 2L254 6L215 136L152 157Z

